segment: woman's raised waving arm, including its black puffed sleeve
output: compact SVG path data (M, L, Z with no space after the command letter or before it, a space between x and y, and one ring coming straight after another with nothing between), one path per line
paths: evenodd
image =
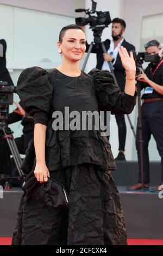
M96 99L99 111L111 111L111 114L130 114L136 103L135 74L136 65L133 53L130 56L121 46L120 57L123 68L126 70L126 87L124 93L115 85L111 73L107 70L92 69L89 75L93 76Z

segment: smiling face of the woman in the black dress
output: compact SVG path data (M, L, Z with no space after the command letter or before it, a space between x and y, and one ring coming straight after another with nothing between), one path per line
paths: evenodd
M61 49L62 57L77 62L83 58L86 46L85 34L80 29L68 29L62 37L62 42L58 42L58 49Z

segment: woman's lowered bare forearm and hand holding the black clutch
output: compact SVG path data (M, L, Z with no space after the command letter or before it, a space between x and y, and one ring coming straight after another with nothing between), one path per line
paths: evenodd
M34 146L36 153L36 167L34 170L37 181L46 182L49 171L45 162L45 141L47 126L43 124L35 124L34 126Z

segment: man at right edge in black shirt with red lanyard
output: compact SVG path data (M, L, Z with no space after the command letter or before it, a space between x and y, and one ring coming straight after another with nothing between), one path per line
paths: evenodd
M149 41L145 44L145 49L148 54L154 55L159 53L159 42L156 40ZM137 76L137 80L141 82L141 89L145 89L142 95L142 136L143 136L143 172L144 172L144 187L149 188L149 155L148 143L153 135L159 155L161 156L161 180L160 184L152 188L152 192L158 192L159 186L163 185L163 60L157 54L155 62L150 63L142 74ZM141 169L140 169L140 147L139 147L139 130L136 132L136 149L139 161L139 181L134 186L127 187L127 190L139 190L141 184Z

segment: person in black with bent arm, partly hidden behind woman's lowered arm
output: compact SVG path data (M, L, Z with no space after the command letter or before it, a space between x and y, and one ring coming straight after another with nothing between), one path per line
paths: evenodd
M15 138L15 143L19 153L24 155L26 154L30 139L33 138L34 122L33 117L24 111L22 101L14 103L17 108L8 115L8 124L13 124L22 120L21 124L23 125L23 135Z

